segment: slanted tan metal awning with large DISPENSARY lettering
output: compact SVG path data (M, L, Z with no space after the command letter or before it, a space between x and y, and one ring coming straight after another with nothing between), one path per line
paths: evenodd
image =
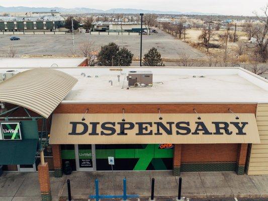
M54 114L50 144L260 143L254 114Z

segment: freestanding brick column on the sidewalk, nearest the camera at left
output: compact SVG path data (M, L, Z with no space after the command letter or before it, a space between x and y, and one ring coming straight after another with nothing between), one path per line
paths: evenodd
M48 163L38 165L38 178L40 184L41 198L42 201L51 201L51 189L50 189L50 179L48 171Z

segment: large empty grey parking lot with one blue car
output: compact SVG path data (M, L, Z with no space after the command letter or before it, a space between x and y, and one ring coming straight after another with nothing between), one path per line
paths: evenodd
M15 35L20 38L18 41L10 41L13 35L0 35L0 55L5 54L10 45L13 45L18 56L71 56L73 43L72 35ZM140 36L112 36L112 35L74 35L75 49L79 54L79 46L86 40L93 41L96 48L115 42L121 47L126 47L138 58L140 55ZM172 36L159 32L150 36L143 35L143 55L150 48L156 47L162 54L162 58L177 59L182 52L186 52L192 58L202 58L203 53L192 48L187 43L175 40Z

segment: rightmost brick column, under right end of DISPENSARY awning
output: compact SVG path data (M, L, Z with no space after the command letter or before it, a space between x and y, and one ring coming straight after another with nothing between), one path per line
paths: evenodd
M236 158L236 173L242 175L245 172L246 154L248 144L238 144Z

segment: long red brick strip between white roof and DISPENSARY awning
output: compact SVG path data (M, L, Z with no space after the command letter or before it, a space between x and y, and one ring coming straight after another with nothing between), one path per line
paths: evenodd
M198 113L229 113L230 108L234 113L256 114L256 104L60 104L54 113L193 113L195 108Z

